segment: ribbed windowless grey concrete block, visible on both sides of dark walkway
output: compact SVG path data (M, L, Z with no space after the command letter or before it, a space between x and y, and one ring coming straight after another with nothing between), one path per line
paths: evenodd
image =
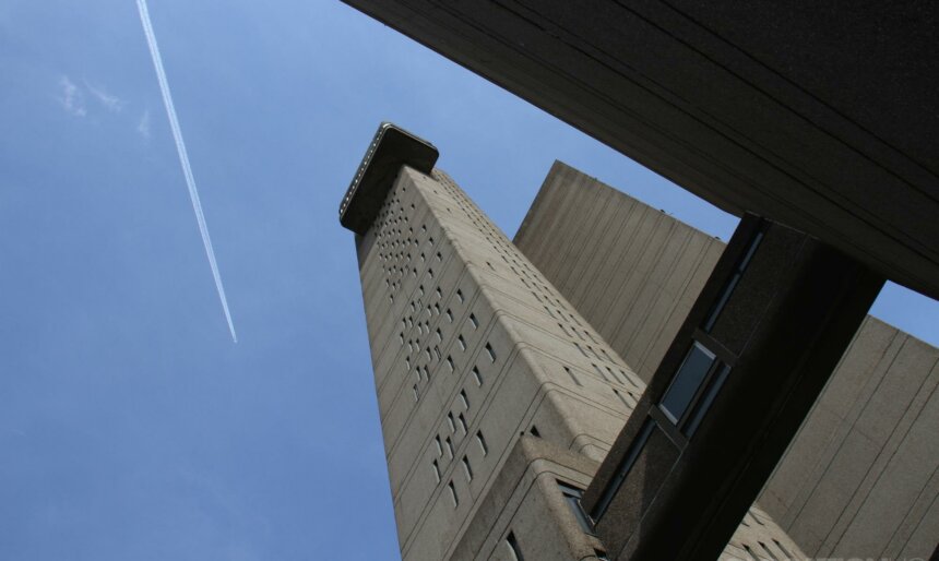
M646 381L723 251L561 163L515 243ZM935 347L864 322L758 500L807 554L932 553L937 365Z

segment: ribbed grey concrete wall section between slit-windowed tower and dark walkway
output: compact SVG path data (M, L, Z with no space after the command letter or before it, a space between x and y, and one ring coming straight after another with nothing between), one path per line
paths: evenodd
M646 382L724 251L560 162L514 241Z

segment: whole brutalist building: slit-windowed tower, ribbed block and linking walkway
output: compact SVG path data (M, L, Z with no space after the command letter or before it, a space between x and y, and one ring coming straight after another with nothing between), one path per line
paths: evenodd
M733 466L715 468L720 454L696 456L694 446L724 445L708 440L725 430L721 418L760 398L740 385L754 379L752 349L721 343L734 346L720 327L740 323L734 302L753 307L745 280L781 263L774 242L801 248L782 261L786 271L811 273L837 253L759 218L745 220L750 241L725 251L562 164L513 243L436 159L431 144L383 124L340 211L355 231L403 559L663 559L668 548L702 559L931 554L939 351L861 320L879 278L861 267L845 273L860 294L825 288L855 319L819 323L840 334L834 343L798 342L817 350L798 362L824 373L766 371L760 383L772 391L760 405L775 413L738 419L765 430L721 439L742 446L725 455L748 468L696 503L675 491L687 485L679 476L724 485ZM710 285L720 309L705 298ZM783 293L785 302L805 299ZM716 338L687 326L696 313L712 319ZM780 312L759 317L789 325ZM747 327L748 342L761 329ZM689 393L679 382L693 360L682 357L699 347L693 360L710 361ZM772 346L750 347L780 361ZM711 526L669 504L706 511Z

